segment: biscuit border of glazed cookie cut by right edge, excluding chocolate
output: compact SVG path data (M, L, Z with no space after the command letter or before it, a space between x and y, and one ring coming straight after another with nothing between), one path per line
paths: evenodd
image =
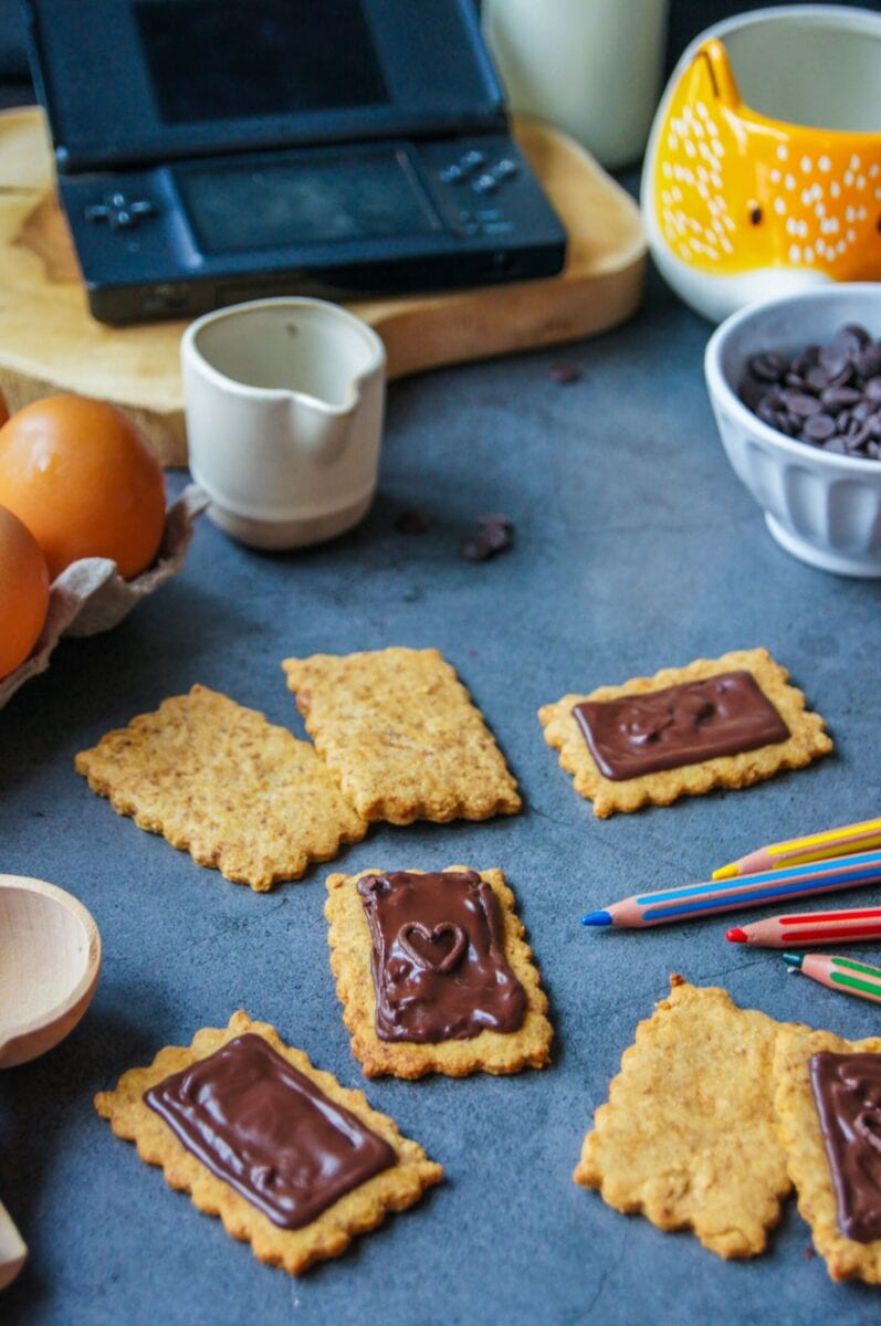
M774 1055L775 1103L789 1177L829 1276L878 1285L881 1238L858 1242L841 1233L839 1225L839 1204L809 1075L811 1058L823 1052L881 1054L881 1038L845 1041L832 1032L812 1032L807 1026L780 1029Z

